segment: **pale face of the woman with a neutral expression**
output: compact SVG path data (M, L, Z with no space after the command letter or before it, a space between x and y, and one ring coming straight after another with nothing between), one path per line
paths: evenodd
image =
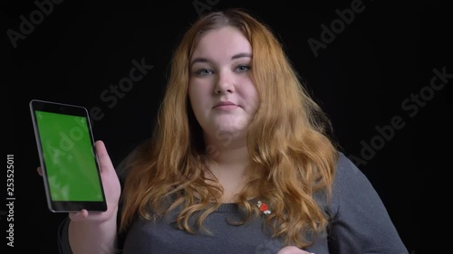
M231 26L211 30L198 42L190 60L188 98L208 136L246 135L258 104L251 61L250 42Z

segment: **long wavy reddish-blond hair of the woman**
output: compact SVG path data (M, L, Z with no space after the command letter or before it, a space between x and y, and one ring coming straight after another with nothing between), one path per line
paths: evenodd
M252 46L252 79L260 99L247 132L247 184L237 204L244 221L259 214L250 197L271 207L273 236L304 248L327 230L329 214L315 199L332 193L337 149L329 119L304 88L272 30L241 9L206 14L182 37L170 63L166 93L154 133L127 159L120 231L135 216L150 220L177 212L179 229L197 233L220 205L222 186L207 177L202 129L188 101L189 62L200 38L213 29L236 27ZM192 221L196 221L193 223Z

